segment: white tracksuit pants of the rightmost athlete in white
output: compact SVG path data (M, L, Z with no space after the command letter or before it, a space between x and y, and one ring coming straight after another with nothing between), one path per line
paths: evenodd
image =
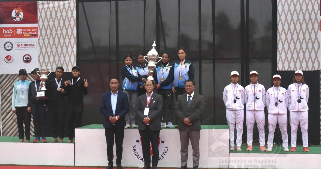
M290 111L290 126L291 126L291 147L297 147L297 131L299 126L302 132L303 147L308 147L308 111L291 112Z

